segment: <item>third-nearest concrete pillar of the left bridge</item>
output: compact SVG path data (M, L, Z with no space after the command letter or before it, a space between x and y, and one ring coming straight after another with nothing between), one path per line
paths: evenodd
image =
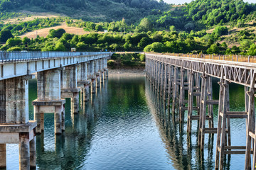
M82 73L82 76L85 76L85 74ZM60 77L61 98L71 98L72 113L79 113L80 89L78 89L77 65L65 67L60 72Z

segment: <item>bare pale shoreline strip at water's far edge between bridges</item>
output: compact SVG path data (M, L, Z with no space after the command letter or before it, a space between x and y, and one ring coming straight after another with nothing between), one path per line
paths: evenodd
M109 74L111 75L125 75L125 76L145 76L146 72L144 69L109 69Z

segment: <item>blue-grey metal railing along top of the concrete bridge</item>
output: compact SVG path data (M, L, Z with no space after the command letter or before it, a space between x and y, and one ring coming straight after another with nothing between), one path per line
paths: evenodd
M102 55L110 52L0 52L0 62L41 60L55 57Z

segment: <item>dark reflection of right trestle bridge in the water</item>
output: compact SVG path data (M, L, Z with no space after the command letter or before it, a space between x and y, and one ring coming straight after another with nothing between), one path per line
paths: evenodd
M218 99L218 79L213 80L213 99ZM146 81L146 100L159 128L161 139L165 144L169 159L174 169L214 169L216 135L206 134L206 145L203 152L198 149L198 123L193 121L192 135L186 134L186 122L179 123L175 114L160 93ZM243 86L230 84L230 110L245 111ZM163 95L164 96L164 95ZM194 103L196 106L196 103ZM217 126L218 106L214 106L215 127ZM185 118L186 118L185 113ZM233 145L245 145L245 120L231 120L231 138ZM243 169L244 155L225 157L225 169Z

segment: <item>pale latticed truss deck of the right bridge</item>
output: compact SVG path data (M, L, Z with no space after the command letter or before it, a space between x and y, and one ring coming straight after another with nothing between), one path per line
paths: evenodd
M256 63L233 62L192 57L180 57L170 55L157 55L146 53L146 58L156 60L164 64L182 67L193 72L199 72L211 77L223 78L227 81L250 86L252 75L255 73ZM255 81L255 80L253 80Z

